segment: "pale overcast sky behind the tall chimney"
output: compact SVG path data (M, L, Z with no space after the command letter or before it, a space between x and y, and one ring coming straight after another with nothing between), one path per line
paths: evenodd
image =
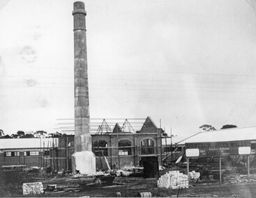
M244 0L85 1L90 114L186 137L256 126L256 19ZM0 3L0 129L74 117L73 1Z

